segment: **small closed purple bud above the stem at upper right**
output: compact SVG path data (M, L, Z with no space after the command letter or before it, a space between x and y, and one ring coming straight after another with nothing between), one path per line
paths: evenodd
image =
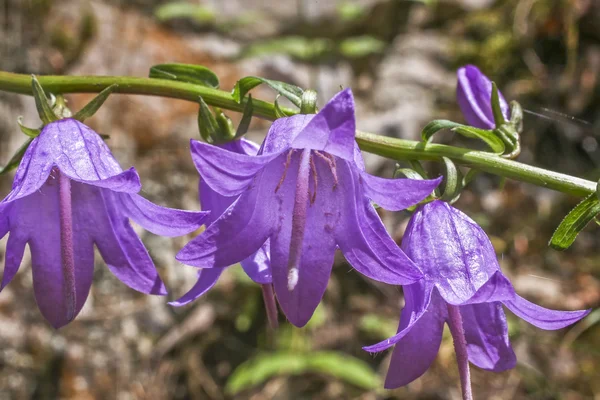
M474 65L459 68L457 76L456 99L469 125L481 129L494 129L496 123L492 113L492 82ZM502 115L508 120L508 104L502 93L498 92L498 97Z

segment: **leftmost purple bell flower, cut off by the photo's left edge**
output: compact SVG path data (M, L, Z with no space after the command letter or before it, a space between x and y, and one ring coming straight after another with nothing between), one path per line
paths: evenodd
M89 294L96 245L123 283L166 294L129 219L152 233L179 236L200 227L207 213L159 207L139 196L140 189L135 169L123 171L89 127L74 119L46 125L0 202L0 237L10 232L1 288L17 273L29 244L38 307L55 328L64 326Z

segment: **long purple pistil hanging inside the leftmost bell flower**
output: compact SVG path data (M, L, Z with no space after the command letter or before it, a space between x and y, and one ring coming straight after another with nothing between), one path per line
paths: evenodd
M67 321L75 318L75 253L73 248L73 207L71 180L60 171L58 175L58 209L60 219L60 254L62 259L63 293L67 307Z

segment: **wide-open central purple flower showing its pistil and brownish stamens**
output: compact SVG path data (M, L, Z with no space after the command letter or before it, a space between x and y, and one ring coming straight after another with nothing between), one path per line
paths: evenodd
M337 246L372 279L393 284L420 279L369 199L401 210L429 195L439 179L367 174L354 136L354 99L344 90L316 115L275 121L257 156L192 141L206 184L239 198L177 259L200 268L223 267L270 240L277 300L297 326L305 325L319 304Z

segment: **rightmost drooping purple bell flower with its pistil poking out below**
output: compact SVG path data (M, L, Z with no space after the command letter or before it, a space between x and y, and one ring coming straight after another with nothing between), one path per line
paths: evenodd
M460 311L469 361L495 372L513 368L516 363L502 305L546 330L564 328L590 311L549 310L518 296L500 271L485 232L439 200L417 208L406 228L402 249L425 278L404 286L406 306L398 333L364 348L379 352L395 345L386 388L406 385L429 368L449 319L449 307Z

